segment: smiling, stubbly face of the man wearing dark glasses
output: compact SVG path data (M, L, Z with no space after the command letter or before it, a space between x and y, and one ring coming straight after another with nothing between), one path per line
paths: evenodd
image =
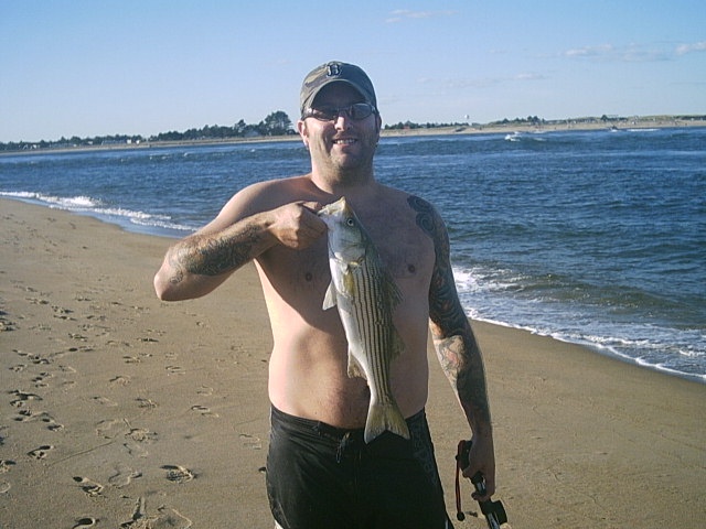
M317 95L312 107L344 108L362 102L363 97L345 83L331 83ZM375 112L363 119L352 119L341 111L332 120L310 117L297 123L299 133L310 151L312 163L333 170L372 170L373 155L379 139L379 116Z

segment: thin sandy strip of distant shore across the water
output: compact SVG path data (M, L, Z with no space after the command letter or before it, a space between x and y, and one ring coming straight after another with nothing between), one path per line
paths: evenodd
M674 116L635 117L631 119L617 119L603 122L598 118L576 118L566 120L553 120L544 123L532 125L528 122L509 121L506 123L463 125L452 127L415 128L415 129L383 129L382 138L404 138L422 136L454 136L454 134L493 134L513 132L558 132L567 130L629 130L629 129L670 129L706 127L706 119L680 119ZM77 145L44 149L25 149L19 151L1 151L0 156L23 154L47 154L66 152L98 152L137 149L162 149L170 147L197 147L197 145L228 145L239 143L263 143L276 141L300 141L299 134L267 136L255 138L223 138L205 140L180 141L143 141L140 143L113 143L108 145Z

